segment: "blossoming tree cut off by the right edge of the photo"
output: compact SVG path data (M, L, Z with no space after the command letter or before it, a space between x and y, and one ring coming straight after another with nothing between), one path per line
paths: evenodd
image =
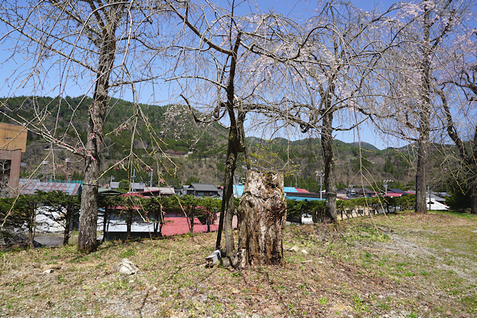
M469 6L463 16L465 19L453 28L453 37L446 41L442 63L446 72L436 79L441 85L435 92L442 104L442 127L456 145L461 162L460 167L454 167L457 169L453 176L464 176L470 189L471 213L477 214L477 33L472 28L476 23L475 8Z

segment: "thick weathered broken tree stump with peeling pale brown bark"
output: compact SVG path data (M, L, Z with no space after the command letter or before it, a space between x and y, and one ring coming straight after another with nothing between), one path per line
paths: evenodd
M236 266L281 265L285 222L283 176L249 171L238 205Z

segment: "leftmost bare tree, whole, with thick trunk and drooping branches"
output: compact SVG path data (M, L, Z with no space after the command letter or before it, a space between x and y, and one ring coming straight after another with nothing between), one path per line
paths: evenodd
M21 56L31 62L26 71L19 68L12 82L32 86L33 95L57 94L60 103L57 113L51 113L51 105L34 104L35 115L31 118L15 118L15 109L9 109L8 103L2 105L2 112L12 120L26 122L30 131L41 135L52 147L62 147L84 158L78 250L93 252L97 248L97 189L109 95L120 93L120 88L127 85L137 103L134 84L153 79L149 67L154 59L144 50L158 52L154 43L158 32L149 26L156 21L160 6L151 6L147 1L40 0L23 5L1 1L0 8L0 21L8 28L3 40L16 41L10 59ZM48 79L53 83L48 83ZM73 121L66 133L58 133L59 109L69 107L62 97L71 85L92 95L86 140L79 138L82 127L74 127ZM71 111L75 114L77 109ZM49 116L53 116L53 125L46 124ZM141 117L144 114L138 107L135 118ZM77 138L68 138L69 131Z

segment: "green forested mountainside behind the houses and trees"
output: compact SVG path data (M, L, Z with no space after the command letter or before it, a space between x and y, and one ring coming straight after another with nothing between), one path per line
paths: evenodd
M57 135L65 140L81 145L86 135L88 104L87 97L66 97L61 103L51 97L16 97L1 100L4 106L21 111L3 115L3 122L28 122L33 115L46 112L56 114L45 116L44 127L56 129ZM198 124L194 122L189 109L180 105L154 106L140 104L138 107L124 100L111 99L106 115L105 137L103 140L104 171L128 157L104 174L104 183L114 176L116 181L127 179L135 169L135 180L149 182L146 167L153 167L153 181L160 178L169 185L182 185L201 181L203 183L223 183L223 167L228 130L222 124ZM142 111L147 122L138 113ZM200 115L200 113L197 113ZM56 119L55 119L56 118ZM149 127L149 129L148 129ZM133 137L134 134L134 137ZM61 139L61 138L59 138ZM131 147L132 140L132 147ZM382 180L395 180L395 187L412 187L415 178L413 169L414 153L410 145L402 149L379 150L371 144L335 141L335 165L338 188L350 184L380 187ZM303 140L262 140L247 138L250 162L256 169L273 169L286 174L285 183L306 188L319 189L319 177L315 171L324 169L319 138ZM359 149L361 147L361 149ZM26 168L22 176L33 174L34 178L62 179L66 176L66 158L71 158L69 173L73 178L81 178L82 160L68 151L46 144L40 135L28 132L27 152L22 157ZM436 151L436 162L440 159ZM132 155L131 155L132 154ZM237 182L245 177L245 162L239 160L236 170ZM48 160L49 165L41 166ZM55 162L55 166L51 164ZM431 167L435 165L431 164ZM124 169L123 169L124 167ZM35 171L35 173L34 173Z

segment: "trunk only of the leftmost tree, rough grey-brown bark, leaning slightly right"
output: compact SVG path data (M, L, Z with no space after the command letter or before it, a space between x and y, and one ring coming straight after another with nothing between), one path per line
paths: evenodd
M78 250L91 253L97 249L97 179L100 176L102 137L106 116L109 76L115 57L115 30L122 3L109 7L106 25L103 27L102 44L98 64L93 104L89 107L88 140L84 153L84 180L81 196L81 218L79 221Z

